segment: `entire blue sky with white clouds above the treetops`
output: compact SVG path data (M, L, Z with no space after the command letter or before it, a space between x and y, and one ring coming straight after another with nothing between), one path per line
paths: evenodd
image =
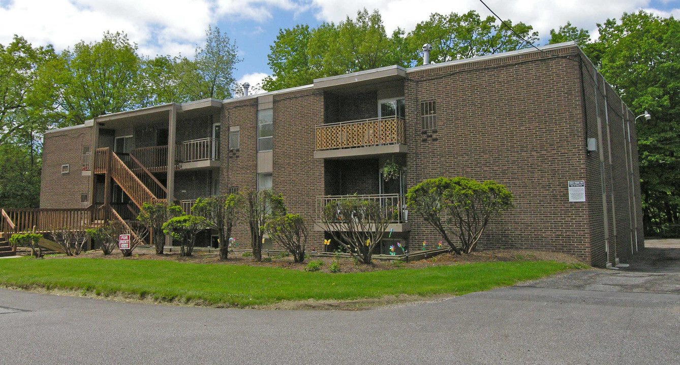
M645 9L680 17L680 0L488 0L503 18L534 26L545 39L551 28L571 21L595 33L596 23L623 12ZM104 31L124 31L146 56L191 56L203 43L208 25L236 41L243 62L235 77L256 85L271 73L267 54L279 28L316 26L355 16L358 9L379 9L388 32L406 31L430 13L490 15L479 0L0 0L0 44L14 34L33 45L63 50L80 40L97 41Z

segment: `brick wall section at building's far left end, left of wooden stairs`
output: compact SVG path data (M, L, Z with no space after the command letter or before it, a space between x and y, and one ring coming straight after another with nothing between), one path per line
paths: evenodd
M90 176L82 176L83 146L92 145L92 128L46 133L43 142L40 208L84 208L81 193L90 193ZM69 173L61 166L69 164Z

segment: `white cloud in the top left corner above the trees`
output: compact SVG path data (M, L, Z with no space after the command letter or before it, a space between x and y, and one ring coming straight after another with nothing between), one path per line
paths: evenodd
M14 0L0 7L0 43L14 34L63 50L122 31L142 54L192 54L205 39L213 0Z

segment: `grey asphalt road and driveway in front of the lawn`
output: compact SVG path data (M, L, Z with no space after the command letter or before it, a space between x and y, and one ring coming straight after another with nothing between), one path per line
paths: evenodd
M680 249L368 311L117 303L0 290L0 364L680 364Z

